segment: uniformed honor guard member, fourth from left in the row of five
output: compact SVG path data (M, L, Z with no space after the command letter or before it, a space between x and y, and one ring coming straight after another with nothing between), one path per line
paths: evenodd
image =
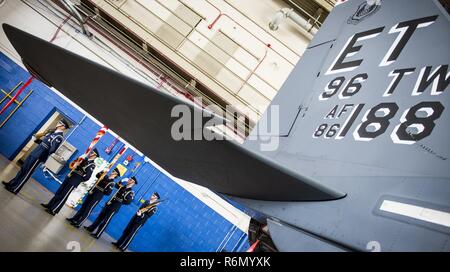
M125 185L116 183L116 188L118 188L118 190L106 203L105 207L102 209L95 222L92 223L92 225L90 225L89 227L84 227L89 232L92 232L92 237L96 239L100 238L113 216L119 212L120 207L123 204L129 205L131 201L133 201L134 192L132 190L132 187L135 184L137 184L136 177L132 177L126 180ZM94 233L95 230L97 230L96 233Z

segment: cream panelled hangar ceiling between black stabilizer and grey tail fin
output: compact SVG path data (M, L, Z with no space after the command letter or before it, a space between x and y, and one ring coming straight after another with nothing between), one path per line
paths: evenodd
M237 8L233 1L81 0L76 8L90 28L148 62L187 97L202 97L204 106L232 105L245 137L306 49L306 32L320 27L333 2L253 0ZM303 33L291 20L269 29L268 20L285 7L308 21Z

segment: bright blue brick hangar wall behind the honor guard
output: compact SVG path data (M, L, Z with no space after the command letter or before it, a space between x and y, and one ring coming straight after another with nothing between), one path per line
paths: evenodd
M0 87L2 89L10 90L20 81L26 81L28 77L28 72L0 53ZM78 150L72 159L84 152L90 141L86 139L93 138L100 126L90 118L83 120L83 113L38 81L34 81L27 90L33 90L34 92L20 110L0 129L0 153L12 159L17 149L20 149L24 142L28 142L34 130L40 127L40 124L55 110L74 123L79 124L67 138L67 141ZM23 99L24 95L22 94L19 100ZM11 110L8 109L6 114L9 114ZM105 160L111 160L123 146L123 143L116 145L111 154L107 155L104 150L113 139L114 136L108 133L97 145ZM227 251L236 251L247 248L248 242L245 233L152 164L145 163L143 156L139 156L133 150L128 149L119 162L123 162L128 155L134 157L132 165L136 162L143 163L133 174L140 181L135 187L136 199L131 205L122 207L120 213L114 217L106 230L109 235L118 239L138 208L139 200L148 198L154 191L158 191L161 196L168 197L169 201L165 205L161 205L158 213L150 219L149 224L141 229L130 246L131 250L216 251L224 246ZM66 166L59 177L63 178L68 172L69 169ZM129 170L125 176L128 177L130 174ZM58 188L59 184L54 179L44 175L41 169L36 171L33 178L51 192L55 192ZM100 205L94 209L90 220L98 215L106 201L106 198L103 199Z

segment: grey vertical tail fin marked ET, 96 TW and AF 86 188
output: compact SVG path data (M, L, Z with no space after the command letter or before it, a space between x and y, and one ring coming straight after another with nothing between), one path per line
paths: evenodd
M352 7L358 6L356 4L361 2L364 1L350 1L343 4L343 8L352 11ZM410 9L405 9L405 5L408 3L412 6L411 2L414 2L411 9L418 9L420 12L407 12ZM347 5L349 7L345 7ZM336 9L339 8L338 6ZM393 11L397 11L396 16L392 16ZM414 31L396 61L390 65L380 66L399 36L398 31L389 34L393 27L402 22L433 16L437 18L423 23L429 25ZM327 21L324 28L327 24L330 22ZM355 42L354 47L361 47L360 50L343 61L344 64L360 61L360 65L348 72L328 71L352 36L373 29L378 29L373 31L374 37L364 36L363 40ZM308 172L308 169L305 169L307 167L302 167L302 164L292 160L293 156L345 162L350 166L368 165L398 170L402 173L412 171L414 175L450 176L448 167L450 145L447 140L450 133L448 125L450 113L447 110L450 106L448 80L445 83L446 80L440 78L442 85L445 85L440 91L432 93L434 86L431 83L422 93L413 94L424 69L433 72L440 66L448 66L450 63L448 18L432 2L382 1L381 8L376 14L358 25L346 24L340 34L331 49L328 43L308 49L302 58L308 62L300 61L274 99L273 104L280 105L281 134L290 128L290 135L281 138L281 147L268 155L276 156L277 159L286 157L283 164L297 167L298 171L303 173ZM316 62L322 62L323 55L326 55L326 60L319 71L320 75L315 77L313 82L306 81L305 84L301 68L313 67L312 70L315 70ZM392 94L385 95L396 75L390 76L390 73L402 69L414 71L408 70L409 74L403 75ZM449 73L450 69L442 71ZM312 74L316 74L316 71L309 73L308 76ZM355 84L359 84L361 88L355 94L346 95L344 91L352 79L355 79ZM362 82L358 83L358 79ZM341 87L337 89L336 94L321 98L321 95L327 93L325 89L333 80ZM328 93L331 94L332 91ZM297 98L299 100L294 103ZM300 106L306 107L307 110L294 119L293 116L297 114ZM384 114L383 111L389 112L387 117L376 116ZM419 118L426 115L426 111L432 111L433 114L429 118ZM351 119L353 113L354 119ZM408 113L409 116L405 116ZM366 115L369 115L370 120L364 122ZM405 124L409 124L410 127L405 129ZM345 125L349 126L344 131ZM419 129L424 130L418 135L420 140L415 140L414 135L410 135L416 129L413 126L420 126ZM255 147L256 144L249 143L249 146ZM433 163L424 163L424 160ZM321 173L318 174L337 176L343 174L340 169L330 169L330 173L327 173L327 170L321 169ZM391 172L389 171L389 174L392 174Z

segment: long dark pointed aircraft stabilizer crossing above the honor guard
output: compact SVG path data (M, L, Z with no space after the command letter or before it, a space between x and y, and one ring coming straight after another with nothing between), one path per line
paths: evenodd
M201 108L10 25L3 29L32 74L176 177L249 199L319 201L345 196L232 141L176 141L171 135L173 107L187 105L200 114ZM193 130L203 129L212 118L206 116Z

